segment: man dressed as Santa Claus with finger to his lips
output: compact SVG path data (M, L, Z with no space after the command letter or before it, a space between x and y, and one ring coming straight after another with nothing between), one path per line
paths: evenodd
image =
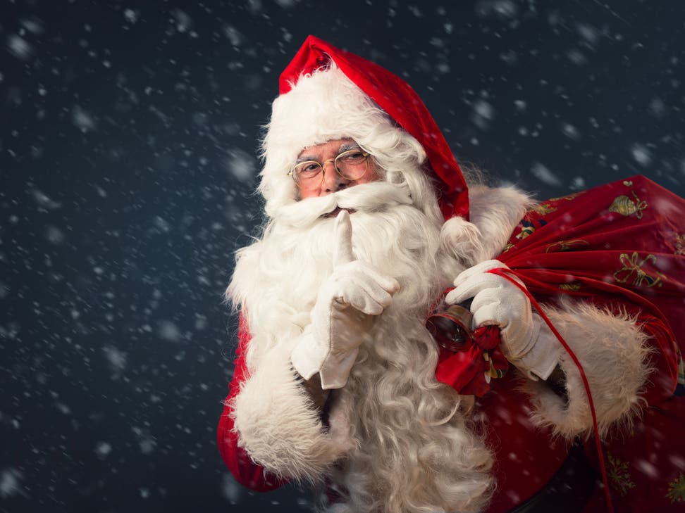
M657 435L674 457L644 444L647 401L663 405L677 386L667 319L612 291L538 304L497 258L544 224L521 224L526 212L547 212L514 187L467 187L405 82L309 37L281 76L263 148L266 223L226 293L240 345L218 443L237 481L326 486L335 512L593 511L601 453L572 442L616 431L619 445L643 445L609 454L626 492L614 502L683 505L670 488L682 442L659 438L682 435L674 417ZM564 254L593 243L555 240ZM669 261L681 275L681 255ZM458 303L476 330L466 353L426 327ZM497 347L479 340L488 326ZM644 483L649 493L633 490Z

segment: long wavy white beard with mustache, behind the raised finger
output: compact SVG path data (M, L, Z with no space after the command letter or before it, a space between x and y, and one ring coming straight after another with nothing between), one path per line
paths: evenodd
M490 453L466 426L459 396L436 381L438 351L424 327L462 266L440 248L442 222L416 208L405 186L372 182L288 205L263 239L240 251L227 295L247 311L248 368L311 322L319 288L333 270L335 220L321 216L338 207L354 210L354 255L400 282L347 385L334 394L331 415L349 423L357 443L331 476L346 490L338 507L479 509L490 488Z

